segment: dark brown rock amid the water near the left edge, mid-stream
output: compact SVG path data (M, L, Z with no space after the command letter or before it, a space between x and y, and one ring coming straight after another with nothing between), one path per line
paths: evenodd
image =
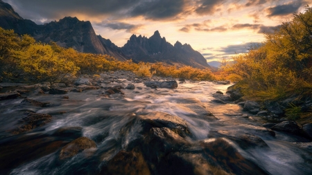
M46 113L29 113L27 117L19 120L19 123L22 123L23 125L12 131L12 133L19 134L31 131L32 129L46 125L46 123L51 122L51 120L52 116Z

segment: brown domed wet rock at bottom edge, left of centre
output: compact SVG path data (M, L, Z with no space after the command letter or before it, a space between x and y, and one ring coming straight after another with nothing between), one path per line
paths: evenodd
M119 151L107 162L100 174L150 174L141 151Z

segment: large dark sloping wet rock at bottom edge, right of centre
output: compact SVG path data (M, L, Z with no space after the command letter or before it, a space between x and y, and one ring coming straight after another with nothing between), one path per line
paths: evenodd
M244 158L230 142L224 138L211 138L201 143L205 156L216 167L222 167L229 174L269 174L251 160Z

